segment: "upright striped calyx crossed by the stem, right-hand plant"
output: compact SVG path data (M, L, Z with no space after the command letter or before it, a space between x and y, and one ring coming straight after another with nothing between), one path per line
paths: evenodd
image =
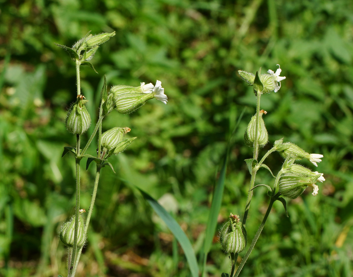
M259 128L258 128L258 137L257 143L259 146L264 146L268 142L268 133L265 127L265 122L262 118L263 114L267 114L266 111L260 110L259 113ZM245 130L245 144L248 146L253 146L256 137L256 115L254 115Z

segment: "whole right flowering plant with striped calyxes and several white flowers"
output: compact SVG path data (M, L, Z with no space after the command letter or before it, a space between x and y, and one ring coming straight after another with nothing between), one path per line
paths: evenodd
M297 198L301 193L304 192L307 187L312 188L312 195L315 196L318 194L319 190L316 182L325 181L322 173L318 173L318 171L313 172L310 169L295 163L297 160L306 158L317 167L317 163L321 162L323 155L307 153L293 143L283 142L283 139L276 140L274 146L268 150L262 158L259 158L260 147L268 143L268 132L266 130L263 119L263 115L267 114L267 112L260 109L260 99L263 94L270 93L271 91L279 91L281 88L281 81L286 79L286 77L280 76L281 72L282 70L280 66L276 72L268 70L265 74L261 74L260 68L260 70L257 71L255 75L250 72L239 70L239 75L241 78L243 78L247 84L253 86L257 99L256 114L252 116L244 136L245 143L253 147L253 156L252 158L245 160L249 168L251 179L244 209L243 220L240 222L239 216L234 216L231 214L229 217L229 222L227 222L220 231L221 247L225 252L229 253L229 257L231 258L231 271L229 274L223 273L222 276L239 276L240 271L243 269L246 260L249 258L252 249L255 247L255 244L261 235L261 232L271 211L272 205L275 201L281 201L286 210L286 215L288 216L286 200L281 196L285 196L291 199ZM280 155L285 159L280 171L276 176L273 175L270 168L264 163L265 159L274 151L278 151ZM266 184L254 186L256 173L260 168L268 169L271 175L273 175L273 186ZM237 271L234 273L238 253L243 251L247 241L245 225L250 209L253 190L259 186L264 186L268 189L268 195L270 196L269 205L262 223L251 242L251 245L244 255L244 258L241 260Z

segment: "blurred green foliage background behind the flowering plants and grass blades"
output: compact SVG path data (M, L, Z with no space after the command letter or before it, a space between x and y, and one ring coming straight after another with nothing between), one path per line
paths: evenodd
M76 98L76 75L54 43L71 46L89 30L116 31L93 60L99 75L81 70L92 122L104 74L110 85L161 80L169 102L152 100L136 113L113 112L103 121L103 131L128 126L138 139L113 157L116 174L102 170L77 276L190 276L180 247L135 186L169 204L164 206L200 254L213 185L244 107L219 227L229 212L242 214L245 206L250 175L244 159L251 149L243 135L255 96L237 71L275 70L276 64L287 79L279 92L262 97L270 143L284 136L307 152L322 153L317 170L326 181L316 198L309 192L288 201L289 218L275 203L242 276L352 276L352 1L0 3L1 276L66 272L66 250L56 233L74 212L74 159L61 158L61 152L74 145L64 120ZM89 152L95 151L92 145ZM275 170L280 162L274 153L267 164ZM89 206L93 175L93 166L82 170L83 208ZM272 185L267 171L259 176ZM267 202L258 189L248 240ZM207 270L209 276L229 270L216 242Z

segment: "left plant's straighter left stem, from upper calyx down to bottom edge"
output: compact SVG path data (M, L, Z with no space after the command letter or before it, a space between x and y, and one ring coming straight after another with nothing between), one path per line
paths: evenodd
M73 268L77 249L78 217L80 211L80 135L76 134L76 211L75 211L75 233L73 237L73 249L69 270ZM72 273L72 272L71 272ZM69 275L72 276L72 275Z

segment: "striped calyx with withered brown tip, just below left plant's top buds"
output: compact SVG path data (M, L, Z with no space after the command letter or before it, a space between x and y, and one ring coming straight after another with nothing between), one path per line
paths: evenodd
M77 98L77 101L72 104L68 110L65 125L67 131L72 134L85 133L91 125L91 116L85 107L87 100L83 100L84 96Z

